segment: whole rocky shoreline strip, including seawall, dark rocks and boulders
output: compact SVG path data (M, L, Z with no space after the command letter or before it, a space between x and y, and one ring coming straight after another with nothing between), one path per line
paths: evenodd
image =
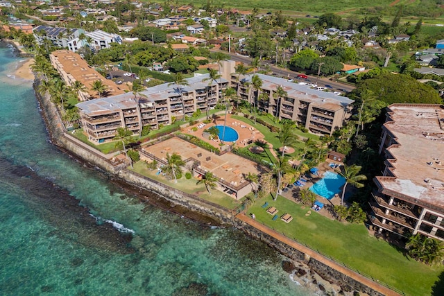
M39 80L35 79L34 89L37 88L38 83ZM360 295L382 295L353 279L348 277L343 279L340 272L332 270L313 259L305 258L303 253L264 235L258 229L250 227L250 225L241 223L241 221L234 218L232 213L210 209L208 205L202 202L187 199L186 196L177 191L170 192L165 188L161 188L162 186L158 186L158 184L156 185L154 182L146 180L146 178L141 178L124 168L114 168L108 163L108 159L105 161L100 155L93 155L90 151L85 151L85 148L80 147L78 143L69 140L63 130L56 107L54 107L49 98L42 97L37 92L35 92L35 96L40 104L42 118L53 144L58 146L63 153L66 153L85 166L95 169L99 168L105 175L108 175L110 182L119 186L126 193L136 196L142 202L148 202L155 207L189 218L203 225L219 227L229 225L230 227L236 227L245 234L267 243L291 260L283 261L282 263L282 268L289 272L290 279L301 286L305 286L314 294L351 296L355 295L356 291L359 291Z

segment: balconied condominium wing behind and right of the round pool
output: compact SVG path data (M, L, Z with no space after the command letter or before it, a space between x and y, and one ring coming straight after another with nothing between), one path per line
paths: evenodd
M354 102L350 98L311 89L284 78L256 75L262 80L259 92L251 85L251 75L239 77L232 74L231 85L242 100L255 104L262 112L295 121L316 134L330 135L350 117ZM284 96L276 96L278 87L284 90Z

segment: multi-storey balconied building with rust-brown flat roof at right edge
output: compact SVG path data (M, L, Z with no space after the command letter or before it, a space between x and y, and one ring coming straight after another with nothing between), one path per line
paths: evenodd
M379 233L444 241L444 106L394 104L386 116L369 218Z

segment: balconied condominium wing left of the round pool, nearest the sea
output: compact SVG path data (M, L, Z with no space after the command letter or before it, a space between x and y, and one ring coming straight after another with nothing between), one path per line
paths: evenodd
M104 143L112 140L117 128L128 128L135 134L146 125L151 129L169 125L176 119L192 116L194 112L206 112L215 107L228 80L217 82L209 75L187 79L189 86L157 85L140 94L127 93L108 98L78 103L83 128L89 141ZM181 96L182 93L182 96Z

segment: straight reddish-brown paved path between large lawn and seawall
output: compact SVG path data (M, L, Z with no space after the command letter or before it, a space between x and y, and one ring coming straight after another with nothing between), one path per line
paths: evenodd
M265 234L268 234L269 236L272 236L273 238L276 238L279 241L282 241L282 243L286 243L287 245L294 247L296 250L299 250L300 252L307 254L311 258L316 259L317 261L319 261L327 266L330 266L330 268L333 268L334 270L338 270L343 275L346 275L346 276L354 279L355 281L359 281L359 283L364 284L364 285L368 286L369 288L372 288L373 290L375 290L379 293L382 293L383 295L400 296L400 294L396 293L395 291L390 290L389 288L386 288L385 286L382 286L381 284L377 284L375 281L372 281L371 279L368 279L367 277L364 277L363 275L359 275L359 273L354 272L348 268L345 268L343 265L340 265L339 263L336 263L335 261L327 259L325 256L319 254L318 252L311 250L309 247L305 247L305 245L301 245L300 243L293 241L292 239L288 238L287 236L284 236L283 234L275 232L273 229L268 228L265 225L262 225L262 223L257 222L257 220L253 220L252 218L246 216L243 213L237 214L236 217L239 220L242 220L245 223L255 227L256 229L259 229L260 231L264 232Z

